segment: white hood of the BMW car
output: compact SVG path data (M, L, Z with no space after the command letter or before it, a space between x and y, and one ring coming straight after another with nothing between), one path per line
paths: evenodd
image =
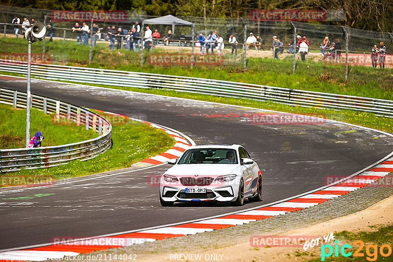
M165 174L172 176L222 176L233 174L239 166L239 164L176 164L169 168Z

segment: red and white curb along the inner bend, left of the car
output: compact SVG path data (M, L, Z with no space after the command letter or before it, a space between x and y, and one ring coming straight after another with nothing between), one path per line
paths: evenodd
M97 110L97 111L103 112L103 113L106 113L106 114L111 114L111 115L116 115L116 116L129 118L129 119L132 119L134 121L138 121L138 122L149 124L153 128L160 129L160 130L168 133L176 141L176 143L173 145L173 147L170 148L168 151L166 151L166 152L164 152L164 153L162 153L162 154L160 154L158 156L149 157L149 158L146 158L144 160L141 160L140 162L133 164L133 166L146 167L146 166L159 165L159 164L166 163L170 159L175 159L175 158L181 157L181 155L183 155L184 151L186 151L190 146L195 145L195 142L190 137L188 137L185 134L182 134L180 132L177 132L175 130L171 130L171 129L167 128L167 127L163 127L163 126L160 126L160 125L148 122L148 121L144 121L144 120L128 117L126 115L115 114L115 113L112 113L112 112L101 111L101 110Z

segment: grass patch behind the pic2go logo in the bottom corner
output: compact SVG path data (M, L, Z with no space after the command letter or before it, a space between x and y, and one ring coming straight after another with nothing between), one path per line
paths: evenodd
M339 250L338 250L338 256L335 257L335 243L331 242L330 244L333 246L333 254L331 257L328 257L325 259L326 262L349 262L349 261L355 261L355 262L363 262L363 261L392 261L393 255L391 254L388 257L383 257L380 253L380 248L382 245L387 244L392 248L393 246L393 225L390 226L381 226L377 229L377 231L372 231L372 232L358 232L358 233L353 233L353 232L348 232L348 231L342 231L337 234L335 234L335 238L340 238L340 239L345 239L345 244L351 245L351 249L346 248L345 253L352 252L351 256L349 257L344 257L341 255L340 249L341 245L343 244L343 241L338 242L339 245ZM360 248L360 244L356 243L356 240L361 240L364 242L364 247ZM373 247L367 247L368 245L374 245ZM374 248L376 247L376 249ZM363 254L363 257L359 256L354 256L354 253L359 249L359 253ZM368 253L367 253L368 251ZM391 249L392 251L392 249ZM328 248L326 248L326 252L328 252ZM385 247L384 251L385 254L388 253L388 248ZM305 254L308 255L308 254ZM320 262L321 258L316 258L309 260L309 262Z

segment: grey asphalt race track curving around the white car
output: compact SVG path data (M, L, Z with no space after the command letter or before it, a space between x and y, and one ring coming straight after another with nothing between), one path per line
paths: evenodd
M26 92L25 79L0 87ZM142 93L32 80L32 94L161 124L197 144L245 146L263 173L263 201L243 207L181 203L163 208L147 177L169 165L84 182L0 192L0 250L50 243L55 236L97 236L248 209L318 188L327 176L351 175L392 151L393 137L343 123L260 125L254 109ZM229 115L228 115L229 114ZM33 131L32 131L33 132ZM44 134L50 136L50 134ZM7 199L33 194L32 199Z

